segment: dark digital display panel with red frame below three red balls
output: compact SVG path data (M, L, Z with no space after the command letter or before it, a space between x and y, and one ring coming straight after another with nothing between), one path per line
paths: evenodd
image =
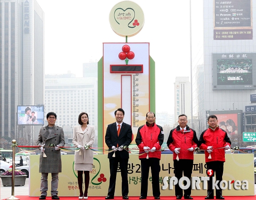
M142 73L143 65L110 65L110 73Z

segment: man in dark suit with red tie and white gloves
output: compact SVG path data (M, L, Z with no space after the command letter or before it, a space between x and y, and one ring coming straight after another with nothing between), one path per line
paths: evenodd
M132 142L132 128L131 125L123 122L124 110L118 108L115 111L116 122L107 126L105 135L105 142L112 152L108 153L110 179L107 197L105 199L114 199L116 178L117 178L117 165L120 164L122 176L122 196L123 199L128 198L128 159L129 153L123 150L125 146L129 146Z

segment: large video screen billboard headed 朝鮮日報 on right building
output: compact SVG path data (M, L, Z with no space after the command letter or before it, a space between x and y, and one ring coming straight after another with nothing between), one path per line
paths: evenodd
M256 89L256 53L213 54L213 90Z

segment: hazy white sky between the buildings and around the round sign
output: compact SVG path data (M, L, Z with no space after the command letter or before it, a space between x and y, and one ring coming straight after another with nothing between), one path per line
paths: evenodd
M109 24L121 0L37 0L45 13L45 73L82 77L85 62L98 61L103 42L125 42ZM149 42L155 60L156 112L174 113L176 77L190 77L189 0L133 0L145 23L128 42ZM195 1L194 1L195 2Z

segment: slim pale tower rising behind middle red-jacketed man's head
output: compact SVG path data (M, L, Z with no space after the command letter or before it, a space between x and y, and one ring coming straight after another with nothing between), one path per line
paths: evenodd
M174 102L175 122L178 121L178 116L180 114L186 114L187 119L190 119L191 101L189 77L176 77L176 81L174 83Z

